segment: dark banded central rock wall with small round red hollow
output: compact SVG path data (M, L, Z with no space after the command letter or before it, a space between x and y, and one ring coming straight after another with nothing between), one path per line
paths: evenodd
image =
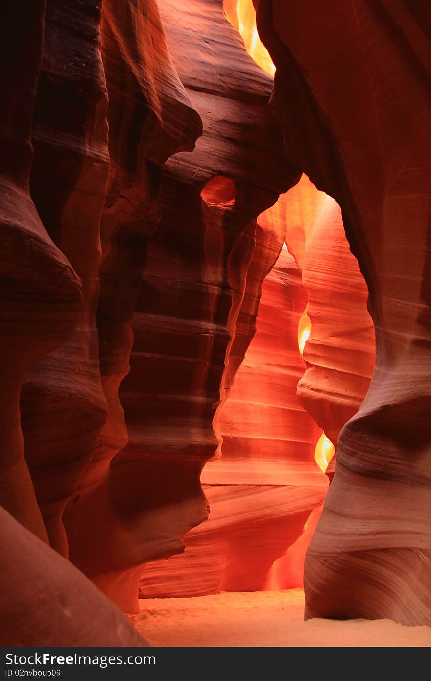
M163 219L142 262L131 370L120 390L129 443L100 485L89 469L93 487L67 509L71 558L129 610L137 607L138 566L181 551L185 532L206 518L199 475L218 445L214 409L229 371L239 364L232 355L225 370L238 314L246 286L257 296L281 247L279 236L274 240L268 233L268 253L249 277L255 218L297 178L296 171L288 178L282 170L281 140L268 111L271 81L246 54L221 3L194 2L180 13L173 2L160 7L174 66L202 115L204 134L193 153L167 161L161 178ZM192 22L185 54L182 36ZM107 51L107 65L110 59ZM188 116L195 121L191 106ZM133 205L133 192L130 197ZM157 218L157 212L146 218L144 239ZM139 247L141 242L142 236ZM108 304L106 298L102 315ZM253 332L251 318L241 330L240 348ZM102 455L105 446L102 441ZM91 507L99 509L94 520L86 511ZM91 547L85 554L82 536Z

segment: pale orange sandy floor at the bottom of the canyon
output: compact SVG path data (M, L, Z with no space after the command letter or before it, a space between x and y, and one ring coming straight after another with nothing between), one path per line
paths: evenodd
M430 627L391 620L302 620L304 592L263 591L140 601L130 616L151 646L431 646Z

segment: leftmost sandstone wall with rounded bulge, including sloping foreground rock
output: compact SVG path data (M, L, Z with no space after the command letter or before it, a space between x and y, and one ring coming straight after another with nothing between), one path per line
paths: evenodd
M5 645L143 645L115 607L49 548L24 458L18 400L31 362L64 343L82 309L78 276L31 200L31 120L44 3L4 8L1 50L1 628ZM26 452L27 454L27 452ZM59 477L59 484L63 480ZM98 613L98 620L93 618Z

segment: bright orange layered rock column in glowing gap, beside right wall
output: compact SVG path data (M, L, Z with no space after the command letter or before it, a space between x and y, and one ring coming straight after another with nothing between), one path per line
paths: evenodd
M359 409L374 367L368 289L349 251L340 208L306 176L285 197L286 240L302 270L311 330L298 396L336 446ZM335 459L330 466L334 470Z

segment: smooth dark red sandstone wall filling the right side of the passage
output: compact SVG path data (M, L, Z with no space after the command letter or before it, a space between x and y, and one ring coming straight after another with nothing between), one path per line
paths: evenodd
M340 434L308 550L306 616L430 623L430 12L256 5L286 145L342 209L376 332L370 390Z

